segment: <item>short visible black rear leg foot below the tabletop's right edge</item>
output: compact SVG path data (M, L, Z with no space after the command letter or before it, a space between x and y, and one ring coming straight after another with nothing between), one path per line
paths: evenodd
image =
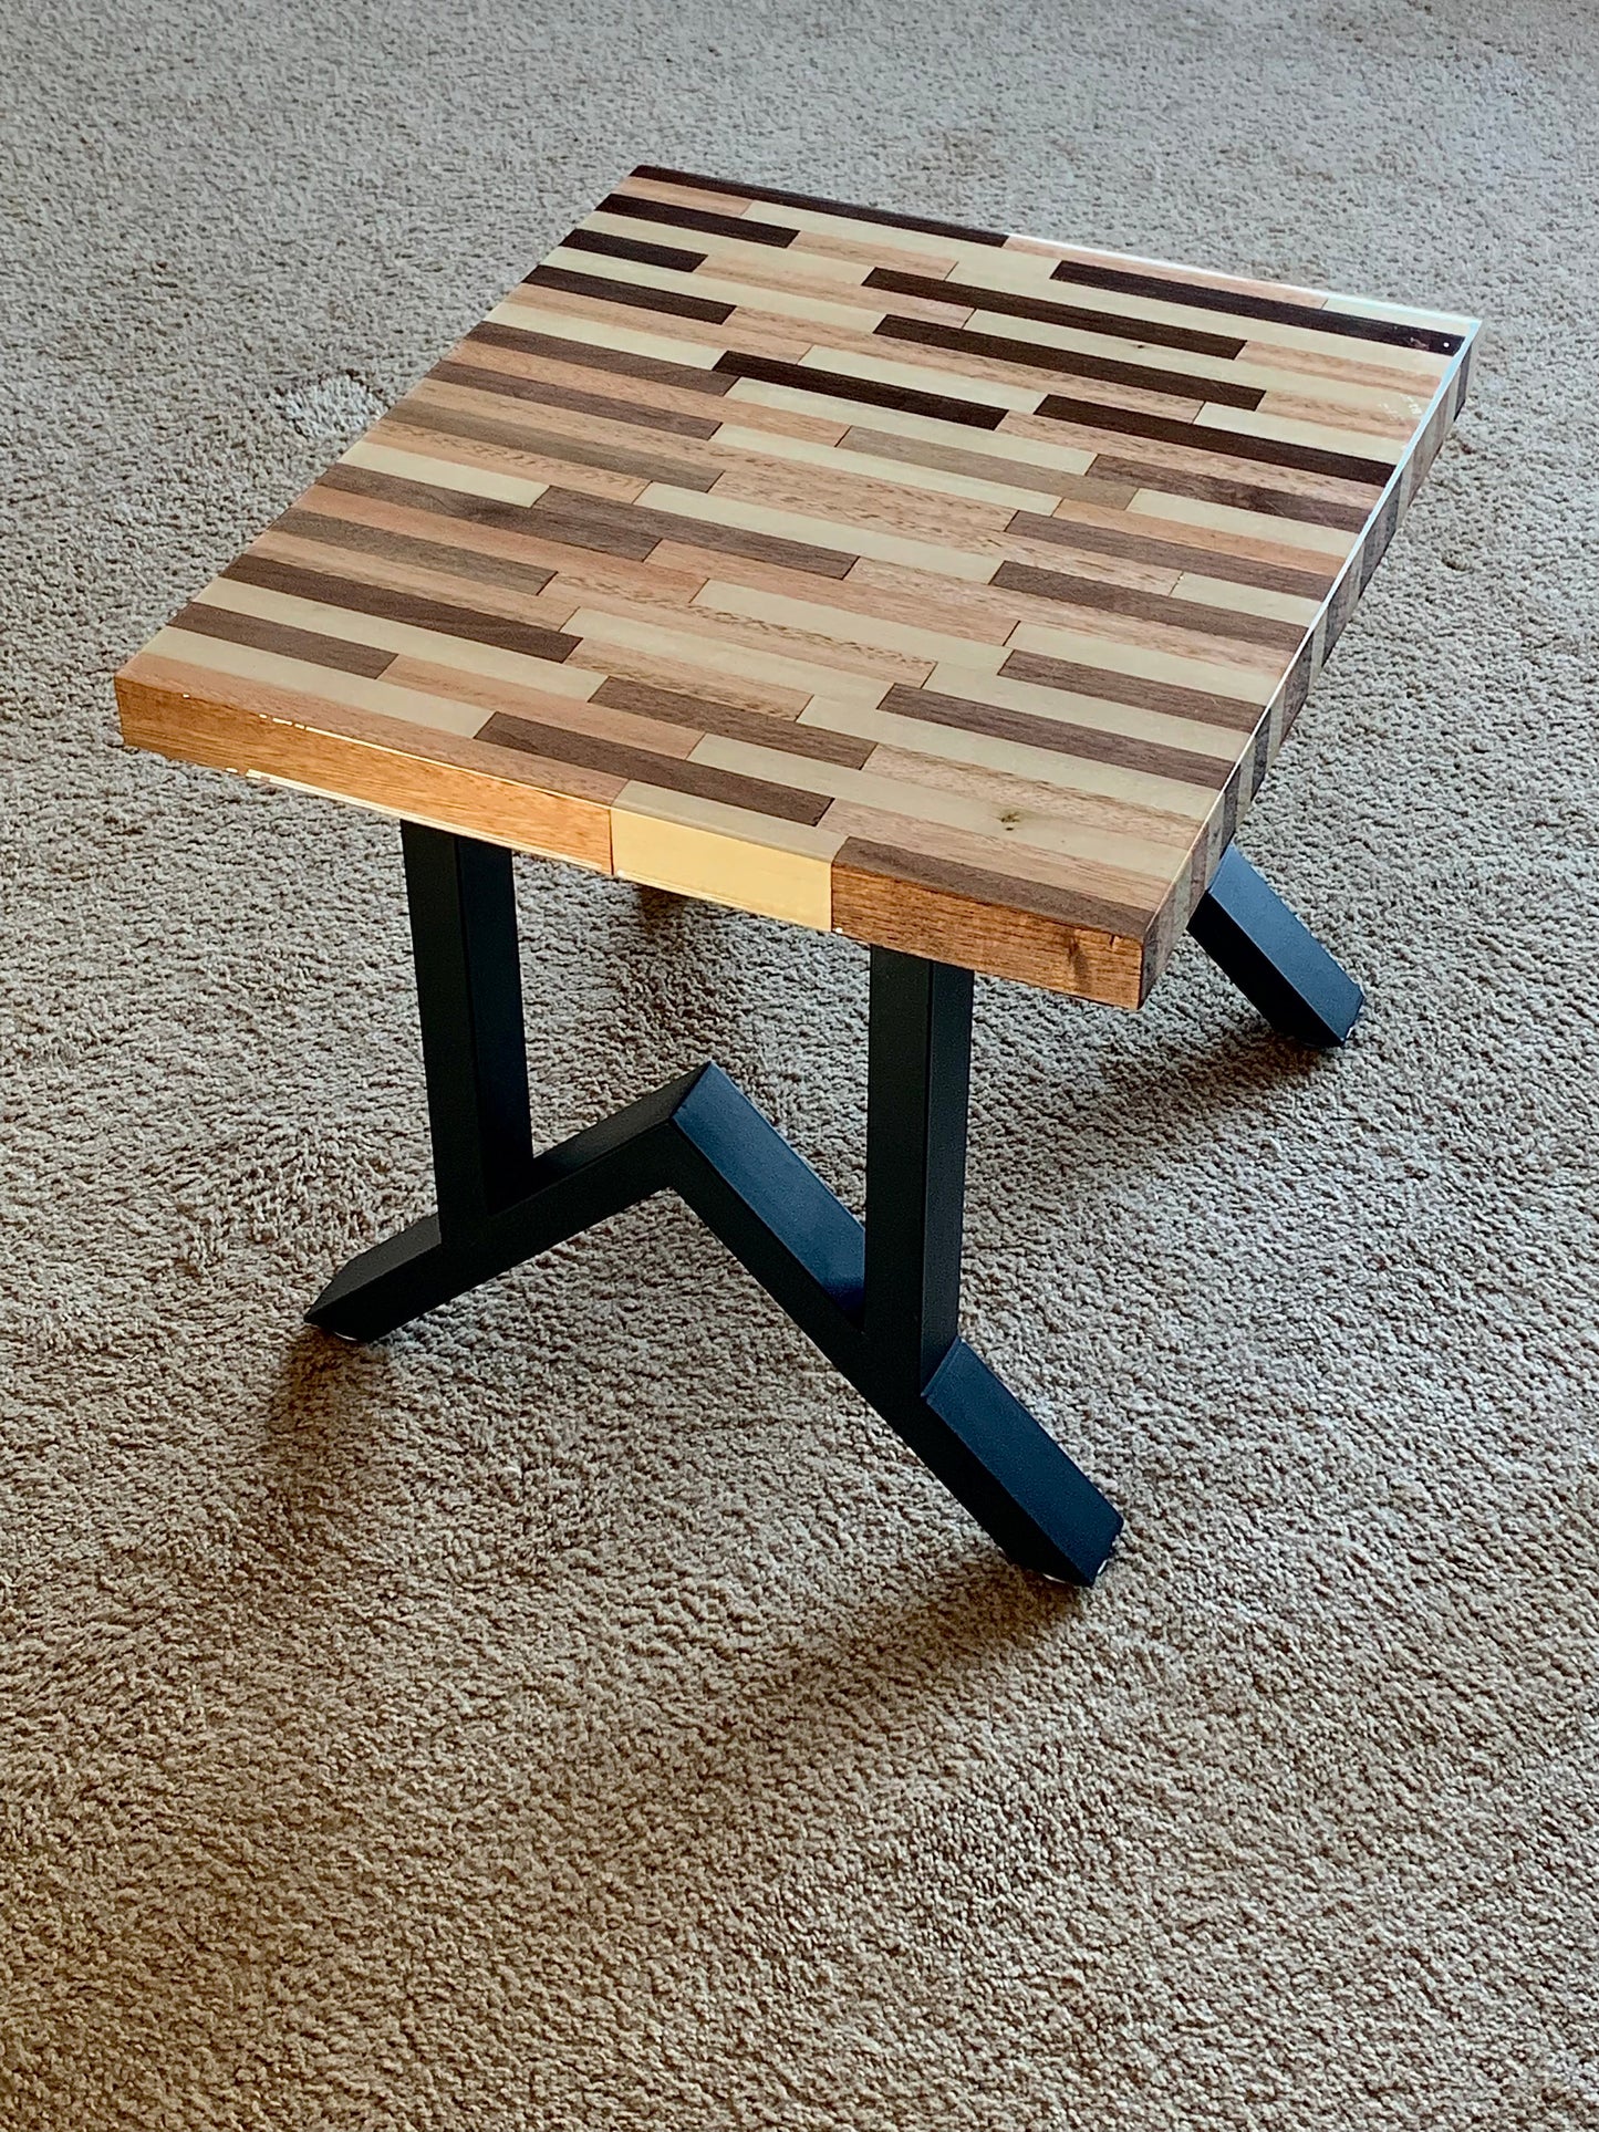
M1188 930L1281 1036L1318 1051L1347 1040L1364 994L1234 844Z

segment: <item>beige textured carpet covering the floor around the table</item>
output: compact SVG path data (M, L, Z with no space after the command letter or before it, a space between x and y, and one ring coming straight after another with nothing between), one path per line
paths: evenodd
M0 51L0 2126L1599 2126L1588 0L68 0ZM392 827L111 667L627 164L1482 311L1245 844L1369 983L979 994L1030 1584L689 1215L392 1341ZM527 863L561 1134L861 1181L863 955Z

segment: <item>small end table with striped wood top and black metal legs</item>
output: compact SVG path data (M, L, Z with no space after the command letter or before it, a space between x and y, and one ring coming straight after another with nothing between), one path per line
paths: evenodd
M379 1339L672 1188L1021 1565L1119 1514L957 1326L972 972L1188 930L1360 991L1232 846L1475 322L642 166L117 674L128 742L401 819L437 1211ZM512 851L870 949L866 1224L708 1064L535 1153Z

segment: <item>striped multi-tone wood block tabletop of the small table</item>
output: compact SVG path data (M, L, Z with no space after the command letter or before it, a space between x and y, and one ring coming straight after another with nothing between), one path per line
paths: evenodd
M642 166L128 742L1136 1006L1475 322Z

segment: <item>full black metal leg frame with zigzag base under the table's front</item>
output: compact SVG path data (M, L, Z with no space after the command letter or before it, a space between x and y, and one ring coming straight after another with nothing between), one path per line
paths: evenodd
M510 859L407 825L405 861L439 1213L311 1324L379 1339L669 1188L1013 1561L1092 1582L1119 1512L957 1332L970 974L872 949L861 1228L718 1066L533 1156Z

